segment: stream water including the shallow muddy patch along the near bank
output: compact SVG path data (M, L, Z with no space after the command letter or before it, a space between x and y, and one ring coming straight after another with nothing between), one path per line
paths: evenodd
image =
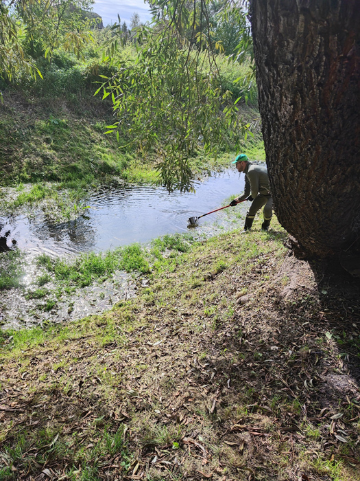
M136 295L136 280L117 272L105 282L77 289L73 295L56 296L56 286L45 285L48 294L42 299L29 299L27 293L38 288L38 269L34 258L76 256L86 251L106 251L134 242L147 243L164 234L187 232L187 220L224 205L232 194L243 190L243 176L227 170L197 184L195 193L169 194L163 188L133 186L104 188L86 199L89 208L75 221L53 225L39 210L32 215L0 216L0 237L5 247L16 247L25 253L23 289L0 292L0 328L23 328L44 322L67 322L86 315L101 313L117 302ZM244 204L235 208L245 211ZM210 236L231 225L227 211L200 219L196 232ZM232 227L235 227L232 225ZM14 244L16 242L16 244ZM5 254L4 254L5 255ZM146 281L142 281L146 282ZM47 302L54 305L49 310Z

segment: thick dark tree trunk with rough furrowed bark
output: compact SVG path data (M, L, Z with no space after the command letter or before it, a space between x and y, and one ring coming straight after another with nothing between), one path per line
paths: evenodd
M250 0L269 180L307 254L360 234L359 0Z

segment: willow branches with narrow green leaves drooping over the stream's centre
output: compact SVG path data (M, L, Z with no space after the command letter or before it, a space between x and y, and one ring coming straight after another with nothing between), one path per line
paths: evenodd
M199 144L216 155L230 142L237 148L248 131L239 117L240 99L221 85L217 54L222 47L213 38L209 3L152 2L152 25L136 32L136 60L117 62L117 41L112 43L104 60L117 63L118 71L104 77L97 90L103 98L112 98L116 121L108 133L128 135L143 155L158 155L157 168L169 191L193 189L189 159ZM243 25L240 54L229 61L244 61L251 46L245 11L230 3L224 7L224 14L229 15L231 8ZM121 35L120 25L114 32ZM249 83L250 78L244 91Z

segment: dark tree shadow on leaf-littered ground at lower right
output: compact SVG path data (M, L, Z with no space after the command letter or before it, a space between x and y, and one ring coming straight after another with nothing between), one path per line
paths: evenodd
M252 465L289 451L289 469L305 462L301 479L342 480L360 456L360 285L336 262L304 264L296 289L282 284L285 267L239 298L232 322L202 344L208 356L193 377L210 381L210 414L224 436L243 436Z

